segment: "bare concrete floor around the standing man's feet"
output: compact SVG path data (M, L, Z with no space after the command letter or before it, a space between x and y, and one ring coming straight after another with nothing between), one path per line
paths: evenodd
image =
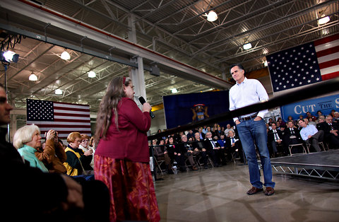
M238 164L158 176L161 221L339 221L339 182L273 173L273 196L249 196L248 166Z

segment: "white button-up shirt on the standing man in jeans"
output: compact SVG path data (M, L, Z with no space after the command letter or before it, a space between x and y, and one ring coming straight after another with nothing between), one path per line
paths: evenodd
M241 107L252 105L254 103L263 103L268 100L268 95L261 82L253 78L246 78L242 83L236 83L230 89L230 111L237 110ZM263 116L268 110L261 110L258 112L258 116ZM249 115L253 115L256 112L252 112ZM244 115L248 116L248 115ZM235 122L238 117L234 117Z

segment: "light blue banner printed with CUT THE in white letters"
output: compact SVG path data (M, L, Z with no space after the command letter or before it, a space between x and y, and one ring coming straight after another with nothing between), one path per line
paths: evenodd
M288 116L293 119L299 119L299 115L306 117L307 112L311 112L311 115L317 117L316 112L319 110L323 115L328 115L331 110L339 110L339 94L284 105L280 107L280 110L284 121L287 121Z

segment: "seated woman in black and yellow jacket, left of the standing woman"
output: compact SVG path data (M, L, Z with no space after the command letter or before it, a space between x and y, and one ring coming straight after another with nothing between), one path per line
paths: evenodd
M86 173L83 172L84 170L93 170L90 166L90 162L93 158L93 150L90 149L84 153L83 150L79 148L79 145L81 144L81 134L78 132L71 132L71 134L67 136L67 142L69 143L69 146L65 149L67 159L64 163L67 169L67 175L83 175Z

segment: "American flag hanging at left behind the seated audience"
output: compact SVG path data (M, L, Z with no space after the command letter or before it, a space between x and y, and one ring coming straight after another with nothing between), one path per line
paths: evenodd
M90 107L71 103L57 103L45 100L27 100L27 124L40 128L41 136L49 129L59 132L65 139L71 132L90 132Z

